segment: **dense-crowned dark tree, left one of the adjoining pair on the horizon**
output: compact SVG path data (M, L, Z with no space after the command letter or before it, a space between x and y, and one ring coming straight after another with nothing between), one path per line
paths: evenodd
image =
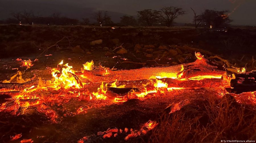
M146 23L148 26L153 26L154 23L159 21L160 11L145 9L141 11L137 11L139 16L139 21Z

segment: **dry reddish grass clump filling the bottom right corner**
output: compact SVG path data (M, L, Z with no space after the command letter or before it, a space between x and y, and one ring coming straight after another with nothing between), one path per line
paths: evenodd
M189 105L160 119L149 142L220 142L255 140L255 109L238 104L228 96L209 97L200 106Z

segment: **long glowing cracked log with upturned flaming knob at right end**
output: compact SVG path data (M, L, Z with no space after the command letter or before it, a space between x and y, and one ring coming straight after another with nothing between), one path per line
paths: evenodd
M147 67L131 70L110 70L95 67L92 70L84 70L83 76L92 82L136 81L152 78L189 79L194 77L206 77L209 75L220 78L225 71L218 70L200 53L196 53L197 60L187 64L179 64L168 67Z

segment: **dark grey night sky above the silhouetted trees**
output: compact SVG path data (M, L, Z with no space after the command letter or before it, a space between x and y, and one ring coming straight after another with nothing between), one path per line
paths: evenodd
M241 5L240 5L241 4ZM136 11L143 9L160 9L163 6L178 6L187 11L176 22L191 23L193 12L205 9L230 10L240 5L230 15L232 24L256 25L256 0L0 0L0 19L10 16L11 12L32 9L43 16L60 12L71 18L90 17L96 10L107 10L114 21L123 14L137 15Z

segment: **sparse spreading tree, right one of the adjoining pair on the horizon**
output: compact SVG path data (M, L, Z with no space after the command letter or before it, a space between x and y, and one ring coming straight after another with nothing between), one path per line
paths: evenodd
M163 7L160 10L160 16L162 18L161 20L167 27L172 26L174 19L176 19L178 16L185 14L185 11L183 11L182 8L173 6Z

